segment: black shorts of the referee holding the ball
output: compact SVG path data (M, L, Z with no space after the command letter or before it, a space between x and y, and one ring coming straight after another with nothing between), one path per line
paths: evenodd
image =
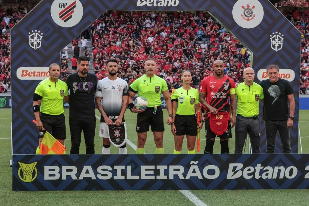
M153 114L153 111L153 107L148 107L144 112L137 114L136 132L148 132L149 125L151 127L151 132L164 132L162 108L157 107L155 115Z

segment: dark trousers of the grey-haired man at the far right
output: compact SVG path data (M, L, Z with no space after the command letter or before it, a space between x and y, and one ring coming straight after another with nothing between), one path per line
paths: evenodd
M287 120L265 120L266 153L275 153L276 134L279 131L283 153L291 153L290 128L286 126Z

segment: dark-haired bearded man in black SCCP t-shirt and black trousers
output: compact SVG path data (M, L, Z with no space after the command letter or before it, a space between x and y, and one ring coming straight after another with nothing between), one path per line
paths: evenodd
M88 57L78 57L77 68L78 73L70 74L66 79L66 84L70 90L70 154L79 154L82 130L85 137L86 154L94 154L96 120L94 94L97 78L94 74L88 73Z

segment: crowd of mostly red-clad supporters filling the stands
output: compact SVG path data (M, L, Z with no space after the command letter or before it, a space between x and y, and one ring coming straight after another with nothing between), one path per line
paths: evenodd
M0 6L0 93L11 85L9 31L28 13L25 5L8 9ZM306 0L277 3L278 7L295 5L308 7L309 3ZM309 9L289 8L283 14L302 32L300 93L308 94ZM92 54L86 52L86 56L93 55L91 67L98 80L107 76L109 58L117 59L117 75L128 84L145 74L145 59L154 58L156 74L167 81L170 91L181 86L184 69L191 70L191 86L197 88L203 78L213 74L216 59L225 63L224 73L235 82L243 81L243 69L250 66L250 51L208 12L107 11L91 25L90 31L92 42L88 46L92 45ZM77 40L74 41L78 46ZM67 61L65 56L61 60L63 80L71 74Z

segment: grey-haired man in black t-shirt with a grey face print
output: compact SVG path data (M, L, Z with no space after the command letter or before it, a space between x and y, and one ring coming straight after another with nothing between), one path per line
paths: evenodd
M294 90L289 81L279 78L277 65L268 65L266 71L269 79L260 82L264 90L263 120L265 120L266 130L266 153L275 152L278 130L283 153L290 154L290 128L293 126L295 109Z

